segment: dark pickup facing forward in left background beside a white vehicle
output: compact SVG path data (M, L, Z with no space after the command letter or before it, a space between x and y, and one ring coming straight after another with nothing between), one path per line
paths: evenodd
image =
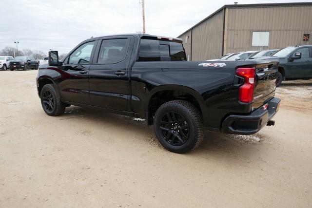
M38 69L39 68L39 61L36 60L34 57L26 57L26 56L20 56L15 57L14 60L10 61L9 69L10 71L13 71L15 69L22 69L22 70L28 70L28 69Z

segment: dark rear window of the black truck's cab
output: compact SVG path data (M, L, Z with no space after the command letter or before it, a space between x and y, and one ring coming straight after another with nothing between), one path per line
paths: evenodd
M137 61L185 61L182 43L157 39L141 39Z

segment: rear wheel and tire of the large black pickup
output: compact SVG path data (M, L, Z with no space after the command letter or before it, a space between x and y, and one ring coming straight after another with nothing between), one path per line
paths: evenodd
M155 113L154 130L160 144L176 153L194 150L204 137L201 113L184 100L161 105Z

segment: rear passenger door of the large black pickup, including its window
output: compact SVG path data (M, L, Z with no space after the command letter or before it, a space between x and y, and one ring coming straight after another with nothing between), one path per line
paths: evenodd
M133 36L106 37L98 41L94 64L90 67L90 99L94 106L126 111L129 62Z

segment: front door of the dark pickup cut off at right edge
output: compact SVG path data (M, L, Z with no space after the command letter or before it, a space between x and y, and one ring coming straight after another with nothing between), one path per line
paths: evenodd
M288 62L287 78L311 77L312 57L309 52L309 47L299 48L292 53L291 57L294 57L295 53L301 53L301 58Z

